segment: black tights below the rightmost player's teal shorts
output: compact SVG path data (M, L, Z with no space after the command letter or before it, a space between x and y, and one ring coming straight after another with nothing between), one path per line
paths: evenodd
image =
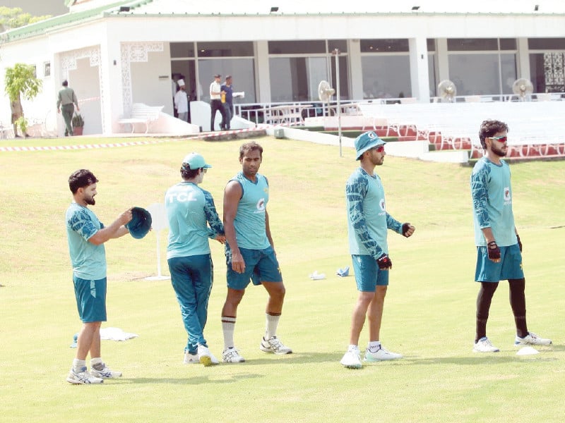
M510 307L512 307L514 322L516 323L516 334L523 338L528 335L528 326L525 321L525 279L509 279L508 283L510 288ZM490 304L494 291L496 291L498 286L498 282L481 282L479 295L477 295L477 329L475 342L479 341L483 336L487 336L487 320L489 319Z

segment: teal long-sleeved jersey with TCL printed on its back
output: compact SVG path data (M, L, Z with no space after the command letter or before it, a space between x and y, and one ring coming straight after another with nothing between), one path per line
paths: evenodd
M212 195L194 183L181 182L169 188L165 209L169 221L167 259L209 254L208 238L224 234Z

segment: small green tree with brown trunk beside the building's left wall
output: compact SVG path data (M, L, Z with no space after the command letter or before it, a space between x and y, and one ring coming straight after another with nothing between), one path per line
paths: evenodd
M4 78L4 90L10 98L12 109L12 121L19 120L22 133L25 134L25 118L21 107L22 97L26 100L34 99L41 91L42 80L35 75L35 66L25 63L16 63L13 68L6 68ZM20 116L13 116L14 111L18 111ZM16 135L16 123L14 122L14 135Z

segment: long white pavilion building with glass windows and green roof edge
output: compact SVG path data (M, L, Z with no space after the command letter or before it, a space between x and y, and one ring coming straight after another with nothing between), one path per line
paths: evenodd
M511 94L517 78L531 80L534 92L565 92L564 1L464 3L75 0L65 15L1 34L0 73L18 62L36 66L43 90L23 109L52 128L68 79L87 134L123 132L118 120L136 102L172 115L175 74L204 102L215 73L233 75L245 92L239 102L317 102L321 80L338 84L336 49L341 100L426 103L441 80L458 95L495 99ZM0 121L10 121L7 97Z

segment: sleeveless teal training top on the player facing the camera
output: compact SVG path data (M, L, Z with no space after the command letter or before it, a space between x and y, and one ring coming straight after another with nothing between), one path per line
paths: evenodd
M234 219L237 245L249 250L263 250L269 247L265 228L265 211L269 201L267 178L257 173L255 182L251 182L243 172L239 172L231 180L237 180L242 187L242 198L237 204Z

